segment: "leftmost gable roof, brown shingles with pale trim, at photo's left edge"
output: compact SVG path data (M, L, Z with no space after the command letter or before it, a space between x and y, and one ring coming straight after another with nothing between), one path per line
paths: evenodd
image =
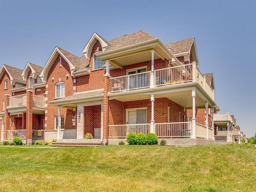
M4 69L8 73L8 75L10 76L10 80L11 80L12 84L13 84L13 81L14 82L17 81L17 82L26 84L26 81L24 81L23 78L22 78L22 70L18 69L18 68L15 68L15 67L12 67L12 66L8 66L6 64L3 64L3 66L0 70L0 74L1 74L0 78L2 78Z

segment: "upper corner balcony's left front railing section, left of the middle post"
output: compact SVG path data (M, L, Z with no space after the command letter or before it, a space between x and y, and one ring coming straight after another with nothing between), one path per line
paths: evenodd
M110 91L120 92L150 87L150 71L110 78Z

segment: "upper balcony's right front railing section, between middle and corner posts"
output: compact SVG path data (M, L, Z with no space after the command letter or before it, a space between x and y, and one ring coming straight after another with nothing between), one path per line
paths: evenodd
M178 84L193 81L193 65L164 68L155 70L155 86Z

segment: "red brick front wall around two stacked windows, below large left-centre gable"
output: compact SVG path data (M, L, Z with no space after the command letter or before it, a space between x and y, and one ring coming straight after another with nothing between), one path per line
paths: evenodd
M47 77L47 85L46 91L48 92L47 98L48 101L55 100L55 84L57 82L65 82L65 96L73 95L75 90L73 90L73 77L71 76L70 68L65 59L61 60L61 67L59 67L59 57L54 61ZM66 75L69 74L69 77ZM54 77L54 80L52 80ZM48 102L47 101L47 102ZM67 110L65 108L61 108L61 115L65 115L65 129L75 129L76 126L72 125L72 114L75 113L72 110ZM54 130L54 116L58 115L57 106L53 106L48 103L47 113L46 113L46 130Z

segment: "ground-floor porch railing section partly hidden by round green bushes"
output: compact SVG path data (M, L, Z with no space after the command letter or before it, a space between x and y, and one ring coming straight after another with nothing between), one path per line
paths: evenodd
M125 138L129 133L150 133L150 123L109 125L109 138Z

